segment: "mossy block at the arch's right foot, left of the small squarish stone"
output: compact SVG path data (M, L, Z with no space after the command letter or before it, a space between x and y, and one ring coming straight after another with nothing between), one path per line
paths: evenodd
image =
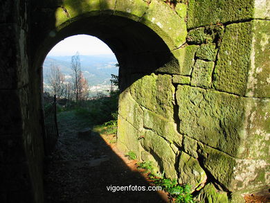
M190 76L192 66L195 63L195 53L198 48L199 46L190 45L172 51L172 54L175 58L177 58L179 62L179 71L177 72L178 74Z

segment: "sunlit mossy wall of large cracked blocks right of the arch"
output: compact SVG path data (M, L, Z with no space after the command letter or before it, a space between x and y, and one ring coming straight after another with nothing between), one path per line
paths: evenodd
M189 1L178 63L120 95L119 147L191 184L200 201L268 193L270 7L260 3Z

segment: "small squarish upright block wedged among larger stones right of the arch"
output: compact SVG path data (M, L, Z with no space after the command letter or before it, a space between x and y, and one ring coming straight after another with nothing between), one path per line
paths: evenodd
M214 62L196 60L190 84L195 87L210 88L212 86L212 73L214 67Z

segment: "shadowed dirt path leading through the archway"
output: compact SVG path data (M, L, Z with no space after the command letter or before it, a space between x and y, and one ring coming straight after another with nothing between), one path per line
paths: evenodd
M108 191L107 186L149 184L135 170L134 161L118 152L111 142L114 137L104 140L91 132L91 125L75 112L62 112L59 121L59 142L44 168L46 203L167 202L164 193Z

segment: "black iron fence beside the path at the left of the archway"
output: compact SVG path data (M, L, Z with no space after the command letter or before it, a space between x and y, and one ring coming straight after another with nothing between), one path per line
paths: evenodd
M56 96L54 96L53 102L44 105L44 150L46 155L50 155L55 149L58 135Z

